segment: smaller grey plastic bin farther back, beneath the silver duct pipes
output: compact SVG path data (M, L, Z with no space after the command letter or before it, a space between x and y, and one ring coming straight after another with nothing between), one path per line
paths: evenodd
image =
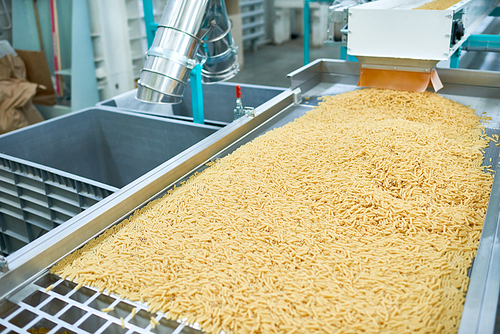
M225 126L234 120L236 106L236 83L220 82L203 85L203 107L205 123ZM285 88L239 84L241 86L242 103L246 107L258 107L279 95ZM164 116L180 120L193 120L191 107L191 86L188 83L184 91L182 103L154 104L136 100L137 90L118 95L110 100L98 103L100 106L115 107L121 110Z

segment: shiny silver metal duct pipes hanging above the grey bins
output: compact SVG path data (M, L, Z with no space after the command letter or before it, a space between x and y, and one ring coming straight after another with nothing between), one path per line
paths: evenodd
M141 71L137 99L180 103L196 61L203 65L204 82L234 77L238 49L230 29L224 0L167 1Z

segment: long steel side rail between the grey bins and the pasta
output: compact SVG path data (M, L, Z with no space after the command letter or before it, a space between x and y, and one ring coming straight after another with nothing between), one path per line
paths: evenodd
M252 129L293 105L295 92L288 89L256 110L255 118L241 118L186 150L121 191L107 197L7 258L10 271L0 278L0 299L21 288L65 255L123 219L156 194L174 184L217 152ZM91 236L89 238L89 236Z

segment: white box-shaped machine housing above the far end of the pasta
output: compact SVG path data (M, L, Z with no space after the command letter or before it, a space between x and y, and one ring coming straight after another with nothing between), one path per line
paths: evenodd
M416 67L428 68L449 59L499 1L464 0L445 10L413 9L429 0L379 0L350 7L347 53L365 64L392 62L376 58L397 64L395 58L400 58L424 60ZM454 25L463 28L463 36Z

